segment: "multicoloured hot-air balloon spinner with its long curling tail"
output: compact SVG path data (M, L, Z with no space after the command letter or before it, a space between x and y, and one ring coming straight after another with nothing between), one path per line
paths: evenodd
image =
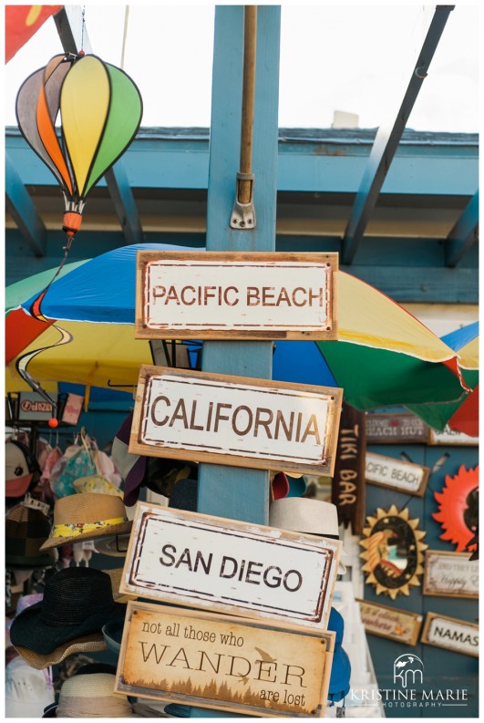
M46 319L42 300L66 262L81 225L88 193L128 149L138 132L142 99L124 70L81 50L77 55L54 56L46 67L27 77L17 93L15 112L26 142L52 171L64 194L64 258L30 309L36 319L57 329L60 337L54 346L59 346L72 337ZM27 384L52 404L55 414L54 400L27 371L29 361L45 348L49 347L21 356L16 367Z

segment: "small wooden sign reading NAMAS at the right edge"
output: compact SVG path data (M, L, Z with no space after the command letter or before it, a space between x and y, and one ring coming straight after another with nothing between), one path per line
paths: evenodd
M427 613L420 642L479 657L479 625L456 617Z

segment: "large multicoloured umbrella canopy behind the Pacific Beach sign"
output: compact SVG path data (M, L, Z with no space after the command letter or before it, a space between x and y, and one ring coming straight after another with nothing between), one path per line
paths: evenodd
M39 381L136 384L139 366L152 363L149 343L134 338L136 255L177 248L125 246L58 278L42 301L42 313L72 336L62 346L50 346L58 339L55 328L29 315L36 301L32 294L6 319L10 374L18 377L19 356L50 346L28 366ZM346 401L359 409L460 397L458 353L388 296L340 271L337 306L340 341L277 342L274 378L343 387Z

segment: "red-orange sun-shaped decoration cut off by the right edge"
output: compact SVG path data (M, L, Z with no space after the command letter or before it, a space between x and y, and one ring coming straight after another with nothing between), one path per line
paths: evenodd
M457 553L473 552L475 545L469 542L476 535L478 525L479 465L473 470L461 465L454 477L446 475L444 489L434 492L434 497L438 501L438 512L432 517L444 531L440 540L455 544Z

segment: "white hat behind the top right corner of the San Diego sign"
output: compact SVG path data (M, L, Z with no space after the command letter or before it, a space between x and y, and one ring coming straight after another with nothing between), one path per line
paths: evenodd
M284 497L269 507L269 524L279 530L307 532L317 537L339 540L338 512L331 502L308 497ZM339 561L338 574L345 574L345 563Z

